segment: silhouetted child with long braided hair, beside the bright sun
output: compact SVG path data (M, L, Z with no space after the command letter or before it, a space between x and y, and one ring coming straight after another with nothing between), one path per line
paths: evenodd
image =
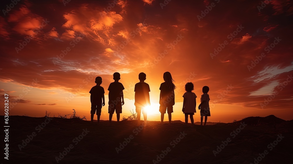
M164 114L166 110L168 111L169 124L171 124L171 113L173 112L173 105L175 105L175 94L174 90L176 86L175 82L170 74L170 72L165 72L163 74L164 83L161 83L160 86L160 109L161 112L161 123L163 124Z

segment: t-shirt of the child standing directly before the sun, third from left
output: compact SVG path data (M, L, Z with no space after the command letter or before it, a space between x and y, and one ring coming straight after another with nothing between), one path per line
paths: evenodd
M147 83L136 83L134 87L134 105L136 107L145 107L149 102L149 84Z

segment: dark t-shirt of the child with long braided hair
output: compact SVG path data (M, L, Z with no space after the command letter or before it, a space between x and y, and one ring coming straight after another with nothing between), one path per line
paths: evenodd
M162 92L162 99L160 100L160 105L175 105L175 94L173 88L168 88L166 82L164 82L161 83L160 90Z

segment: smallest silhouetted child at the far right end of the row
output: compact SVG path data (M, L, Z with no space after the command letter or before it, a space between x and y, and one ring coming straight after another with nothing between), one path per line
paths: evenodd
M198 109L200 109L200 125L202 125L203 117L205 116L205 124L207 123L207 116L211 116L209 111L209 87L204 86L202 87L202 96L200 98L200 105L198 105ZM204 124L204 125L205 125Z

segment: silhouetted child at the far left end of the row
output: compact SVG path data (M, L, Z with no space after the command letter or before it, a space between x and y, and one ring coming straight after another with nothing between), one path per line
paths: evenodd
M91 88L91 122L93 122L93 116L97 111L98 123L100 122L100 116L102 111L102 105L105 106L105 90L101 87L102 78L100 76L96 77L96 86ZM103 101L102 101L103 100Z

